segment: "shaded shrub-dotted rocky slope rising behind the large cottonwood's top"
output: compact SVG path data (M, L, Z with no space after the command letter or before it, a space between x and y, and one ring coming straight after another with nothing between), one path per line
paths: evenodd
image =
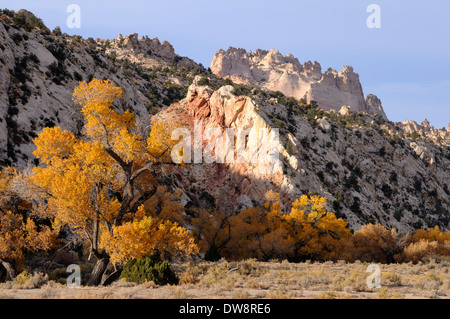
M25 11L27 19L36 19ZM34 18L33 18L34 17ZM26 22L24 22L26 23ZM172 46L136 34L113 40L82 39L45 26L26 31L0 14L0 163L33 163L32 139L44 127L74 132L82 117L72 101L79 81L93 77L120 86L116 106L131 109L140 126L151 113L185 96L189 77L202 71ZM204 71L204 70L203 70Z

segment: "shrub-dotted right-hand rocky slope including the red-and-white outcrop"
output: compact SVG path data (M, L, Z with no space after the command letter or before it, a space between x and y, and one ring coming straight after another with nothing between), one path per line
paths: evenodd
M279 150L282 170L264 175L251 163L188 165L177 171L188 198L196 200L192 189L208 192L219 209L233 211L260 202L268 189L280 192L285 205L312 192L326 196L329 209L354 229L368 222L448 228L448 148L393 134L395 124L374 115L299 110L274 98L236 96L232 86L213 90L200 80L157 117L182 119L191 129L195 120L222 130L277 127L280 141L267 147ZM249 151L254 142L246 145Z

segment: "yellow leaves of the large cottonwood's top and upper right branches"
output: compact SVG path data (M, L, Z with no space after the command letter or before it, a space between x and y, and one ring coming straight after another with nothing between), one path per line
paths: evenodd
M74 101L83 106L86 119L85 134L114 149L125 162L172 162L171 151L177 141L172 141L171 125L154 122L147 140L137 134L135 117L128 110L119 113L111 108L114 99L122 96L122 90L109 81L94 79L81 82L75 89Z

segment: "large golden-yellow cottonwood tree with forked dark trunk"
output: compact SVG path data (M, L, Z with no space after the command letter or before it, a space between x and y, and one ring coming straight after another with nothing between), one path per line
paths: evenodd
M55 226L67 225L89 240L97 258L89 285L101 283L111 256L119 262L142 254L141 246L125 249L130 243L157 236L144 253L168 247L179 256L196 250L181 226L145 209L173 165L174 124L152 123L144 136L134 114L113 109L121 96L109 81L80 82L73 97L85 119L81 136L54 127L34 140L33 154L43 165L33 169L30 180L40 190L41 211Z

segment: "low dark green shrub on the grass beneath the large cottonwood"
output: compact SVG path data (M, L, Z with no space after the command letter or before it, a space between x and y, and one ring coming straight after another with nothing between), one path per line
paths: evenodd
M177 285L179 282L169 263L162 260L159 254L129 260L120 274L120 279L138 284L153 281L157 285Z

